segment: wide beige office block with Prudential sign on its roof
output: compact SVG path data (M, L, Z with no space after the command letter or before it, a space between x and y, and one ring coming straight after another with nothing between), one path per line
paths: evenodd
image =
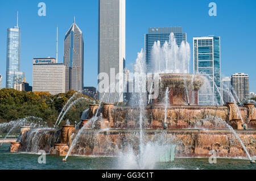
M33 92L65 93L66 67L55 58L34 58Z

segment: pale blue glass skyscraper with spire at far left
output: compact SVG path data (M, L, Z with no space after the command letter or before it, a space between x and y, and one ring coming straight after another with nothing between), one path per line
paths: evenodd
M14 83L21 83L25 74L20 71L20 28L7 29L6 52L6 88L14 88Z

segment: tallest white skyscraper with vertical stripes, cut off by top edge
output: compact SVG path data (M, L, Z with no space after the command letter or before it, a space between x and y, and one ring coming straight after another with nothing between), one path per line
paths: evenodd
M99 79L99 98L108 103L123 102L125 0L99 0L98 28L98 74L106 75Z

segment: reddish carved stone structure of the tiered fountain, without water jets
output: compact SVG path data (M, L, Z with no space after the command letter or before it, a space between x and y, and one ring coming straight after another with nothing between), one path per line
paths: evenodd
M234 103L227 103L226 106L198 106L198 91L204 83L199 75L160 74L159 77L159 98L144 107L142 127L145 141L156 140L156 137L162 135L167 141L171 140L170 144L175 143L175 157L209 157L210 150L216 150L218 157L246 157L240 142L220 121L224 120L237 129L246 149L251 156L256 156L254 104L245 104L244 107L237 107ZM170 106L166 113L167 129L164 130L165 111L160 103L167 87L170 90ZM71 150L71 155L117 155L129 144L138 149L139 107L104 104L98 115L95 115L98 107L99 105L90 105L89 117L82 120L80 126L81 129L86 125L86 129ZM93 116L102 117L96 121L100 125L97 130L92 129L92 125L88 123ZM242 127L242 120L247 130ZM59 134L60 139L56 139L60 141L50 145L51 154L67 154L78 132L72 126L64 126ZM22 137L19 148L11 151L26 150L29 145L23 144L26 137ZM11 148L16 148L16 143Z

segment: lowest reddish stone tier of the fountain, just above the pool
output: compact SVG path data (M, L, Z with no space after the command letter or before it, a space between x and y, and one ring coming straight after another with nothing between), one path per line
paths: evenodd
M97 132L92 129L85 129L77 144L71 150L71 155L118 155L121 151L127 150L129 145L133 145L134 151L139 149L139 130L128 129L110 129L108 131ZM72 131L70 139L76 137L78 131ZM42 144L47 143L53 132L39 132L39 140L37 143L38 150L43 149L51 154L62 153L61 156L67 154L67 146L63 146L61 150L59 142L57 146ZM237 131L246 149L252 157L256 156L256 131ZM59 136L60 137L60 136ZM59 140L55 137L55 140ZM29 138L24 137L17 151L31 150ZM144 130L144 142L156 142L158 145L176 145L175 157L209 157L210 150L216 150L218 157L246 157L240 142L229 130L199 130L199 129L179 129L179 130ZM162 142L163 141L163 142ZM26 144L25 144L26 143ZM35 142L34 142L34 146ZM58 150L55 150L58 149Z

